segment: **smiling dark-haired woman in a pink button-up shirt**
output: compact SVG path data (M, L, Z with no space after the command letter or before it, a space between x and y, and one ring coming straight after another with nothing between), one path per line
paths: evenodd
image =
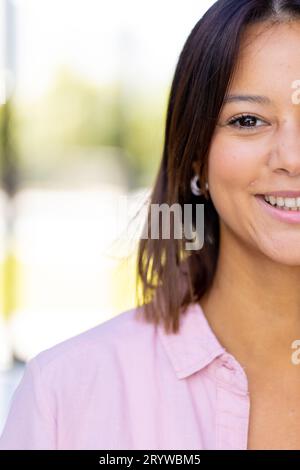
M150 203L204 204L204 244L142 239L142 305L28 362L0 448L300 448L299 46L300 0L195 25Z

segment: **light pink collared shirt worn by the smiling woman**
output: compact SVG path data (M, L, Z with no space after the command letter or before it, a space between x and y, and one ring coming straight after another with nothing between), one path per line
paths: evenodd
M247 449L246 374L201 307L169 335L136 312L27 362L0 449Z

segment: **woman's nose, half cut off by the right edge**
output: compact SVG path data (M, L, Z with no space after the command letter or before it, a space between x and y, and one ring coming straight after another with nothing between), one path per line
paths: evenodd
M300 175L299 119L296 124L285 123L278 130L270 165L276 173L285 173L290 176Z

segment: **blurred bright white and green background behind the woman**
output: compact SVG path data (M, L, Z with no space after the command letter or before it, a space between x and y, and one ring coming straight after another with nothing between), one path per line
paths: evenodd
M30 357L134 306L144 213L128 223L213 3L0 0L0 432Z

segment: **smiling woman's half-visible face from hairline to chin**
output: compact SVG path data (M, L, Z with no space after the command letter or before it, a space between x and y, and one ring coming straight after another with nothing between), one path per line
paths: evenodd
M300 211L257 196L274 193L271 202L285 205L298 197L300 207L300 21L252 25L244 41L228 95L265 98L224 104L209 153L210 196L221 230L276 262L300 265ZM229 124L241 114L248 117Z

